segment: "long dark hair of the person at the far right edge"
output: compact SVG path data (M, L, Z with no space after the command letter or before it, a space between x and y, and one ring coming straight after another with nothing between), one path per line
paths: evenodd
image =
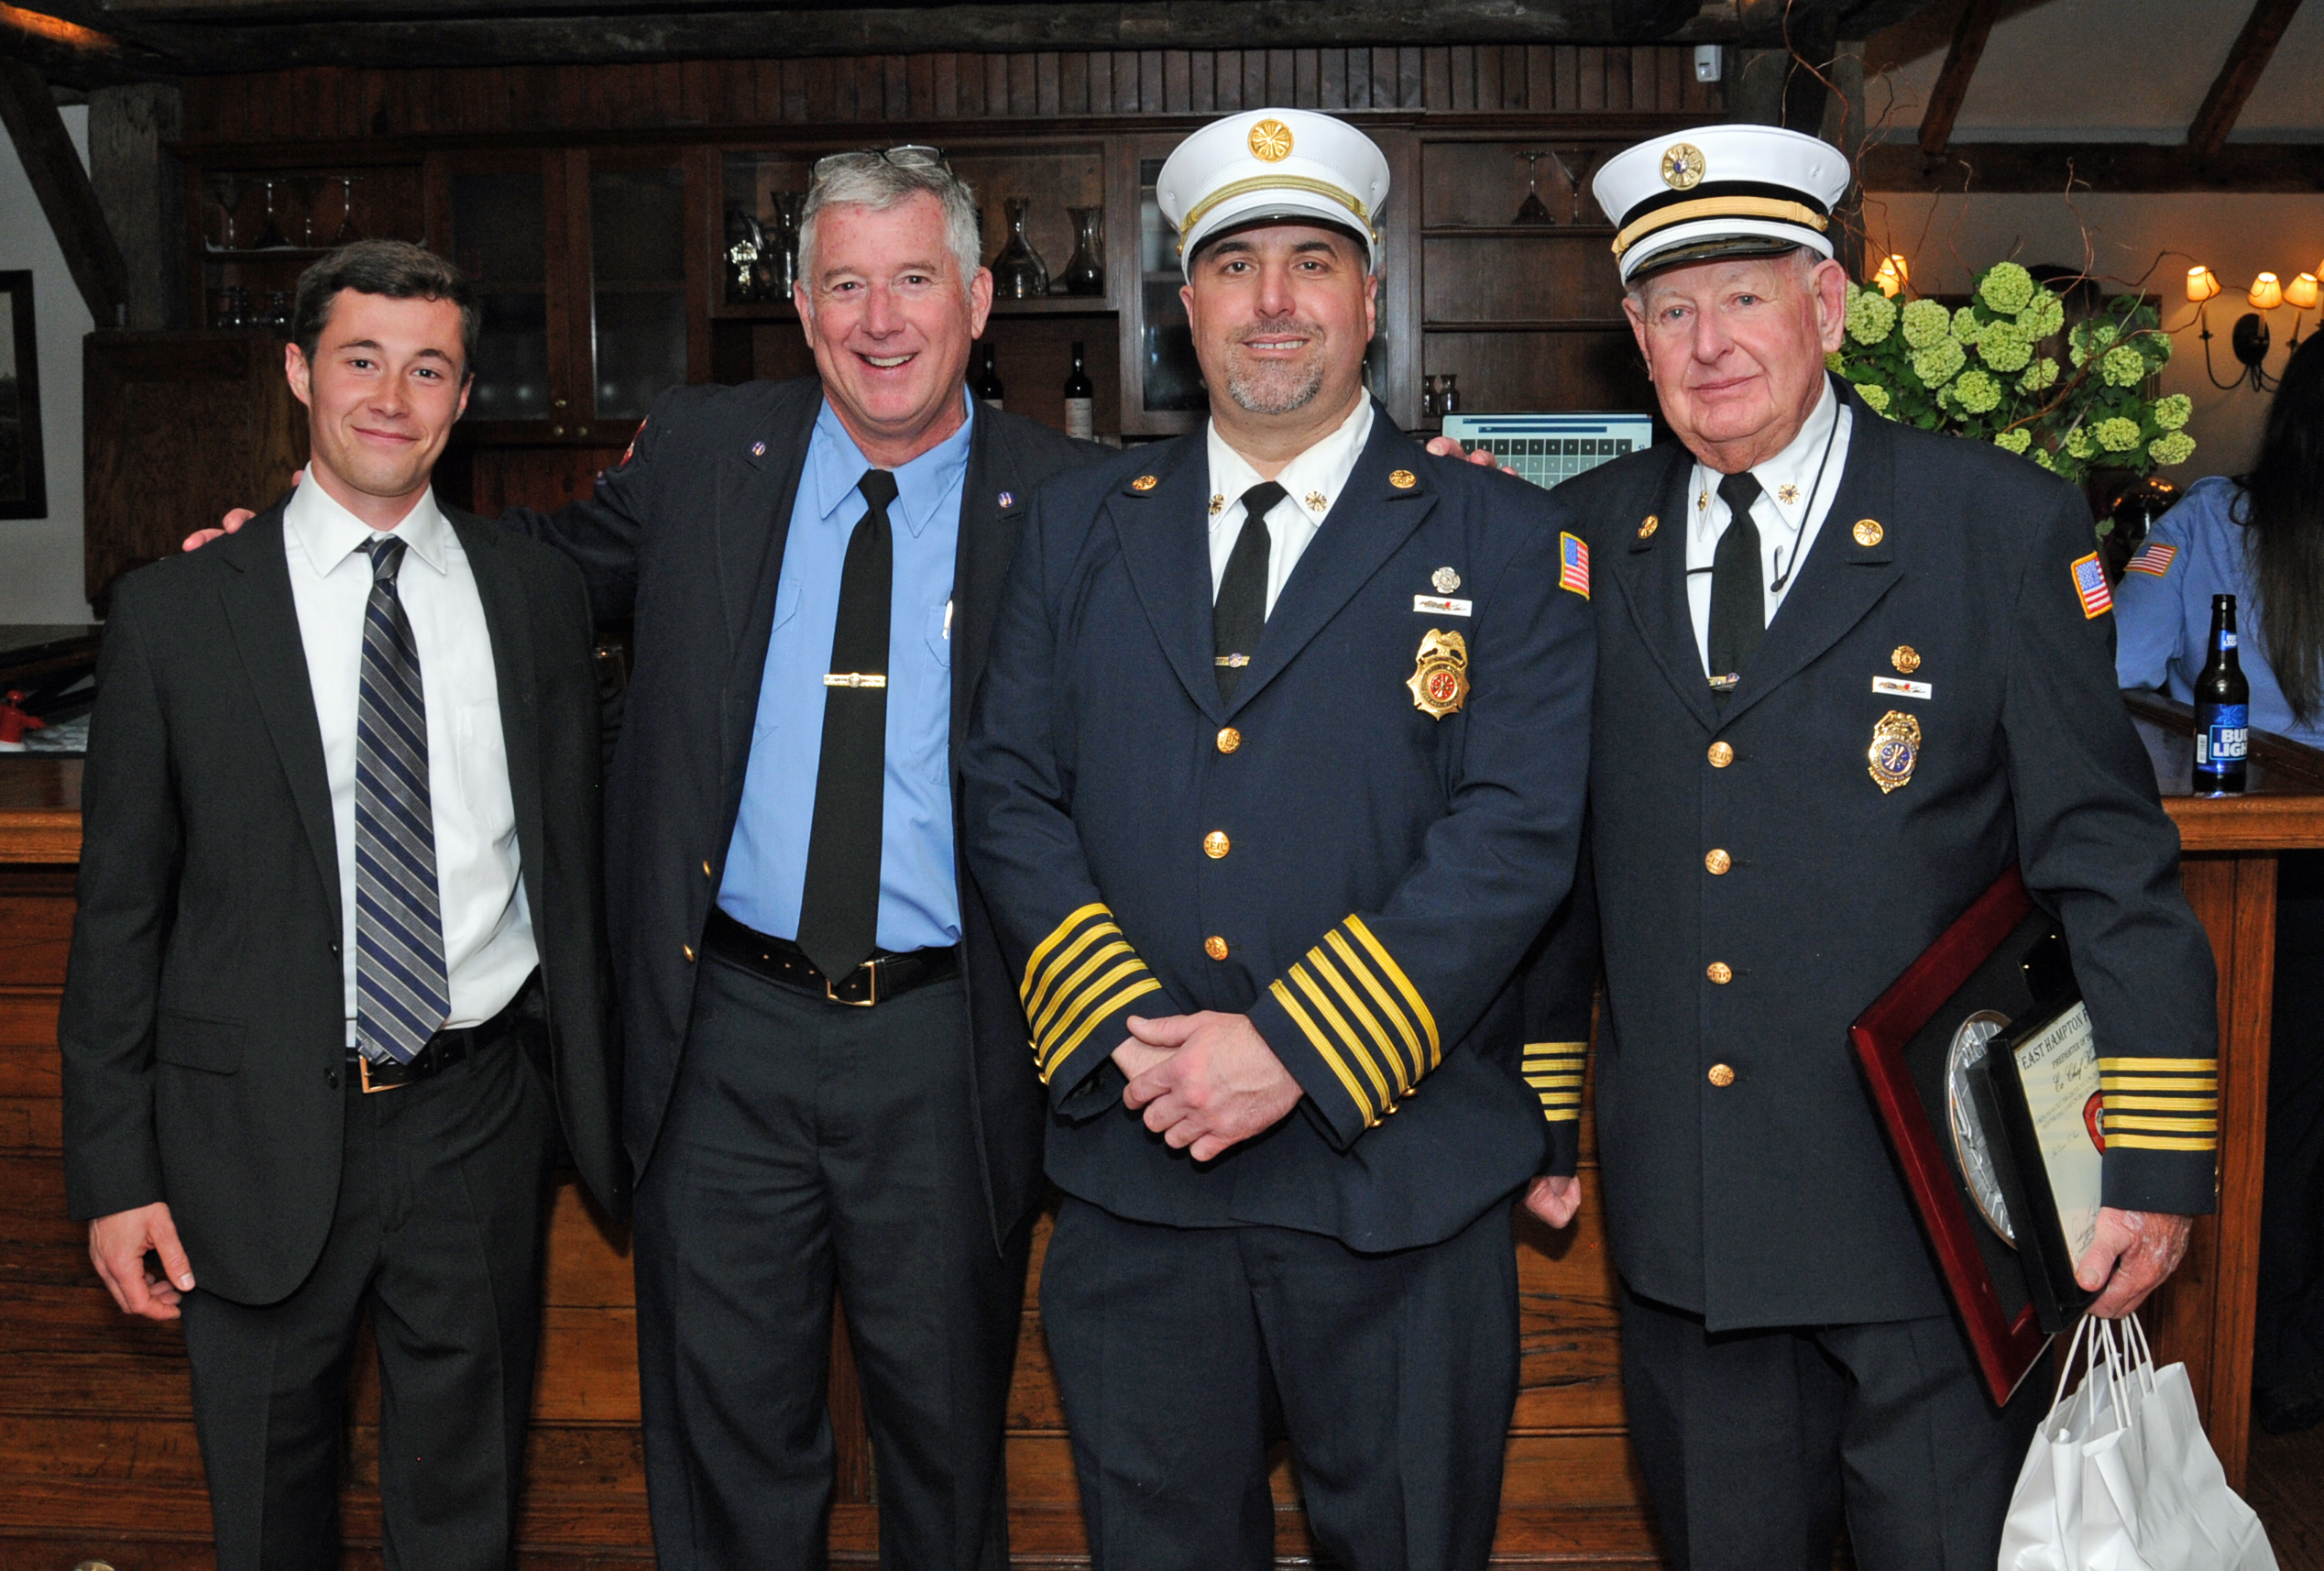
M2259 646L2301 725L2324 709L2324 332L2291 351L2259 462L2240 481Z

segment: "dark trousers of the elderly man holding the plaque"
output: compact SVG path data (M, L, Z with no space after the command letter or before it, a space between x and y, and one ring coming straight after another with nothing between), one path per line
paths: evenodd
M1622 1292L1629 1439L1678 1571L1992 1571L2043 1371L1996 1411L1950 1315L1703 1332Z

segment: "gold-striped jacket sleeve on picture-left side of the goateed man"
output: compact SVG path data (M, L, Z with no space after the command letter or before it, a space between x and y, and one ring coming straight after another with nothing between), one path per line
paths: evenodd
M1111 1106L1097 1071L1129 1034L1129 1016L1181 1011L1122 937L1074 827L1053 725L1057 634L1046 558L1037 493L962 753L969 869L1018 976L1050 1106L1097 1116Z

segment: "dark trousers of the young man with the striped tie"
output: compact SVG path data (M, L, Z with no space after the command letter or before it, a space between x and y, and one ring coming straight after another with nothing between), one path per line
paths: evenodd
M388 1092L353 1081L339 1208L307 1281L281 1304L186 1294L218 1571L337 1571L339 1434L365 1311L388 1571L504 1571L555 1111L516 1041Z

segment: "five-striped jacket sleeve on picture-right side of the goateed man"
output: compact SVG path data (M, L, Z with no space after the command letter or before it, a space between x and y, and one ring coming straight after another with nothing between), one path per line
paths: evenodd
M1573 881L1597 641L1590 602L1559 586L1562 521L1550 504L1478 611L1450 806L1420 860L1378 911L1318 934L1250 1009L1339 1148L1469 1034Z

